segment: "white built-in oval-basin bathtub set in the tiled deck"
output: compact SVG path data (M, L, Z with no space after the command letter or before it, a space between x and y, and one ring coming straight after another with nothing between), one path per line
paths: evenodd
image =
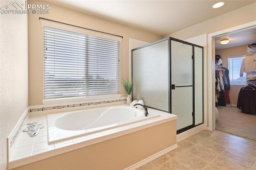
M128 105L50 114L47 115L48 142L75 136L90 136L157 117L160 115L150 112L148 117L145 117L144 109L130 108Z

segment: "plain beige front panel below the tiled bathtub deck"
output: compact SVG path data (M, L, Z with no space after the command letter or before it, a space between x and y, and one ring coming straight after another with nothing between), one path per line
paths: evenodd
M66 152L15 170L121 170L176 144L176 120Z

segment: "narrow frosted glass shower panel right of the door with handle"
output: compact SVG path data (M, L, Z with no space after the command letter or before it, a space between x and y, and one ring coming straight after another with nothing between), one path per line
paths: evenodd
M203 48L194 48L195 125L203 123Z

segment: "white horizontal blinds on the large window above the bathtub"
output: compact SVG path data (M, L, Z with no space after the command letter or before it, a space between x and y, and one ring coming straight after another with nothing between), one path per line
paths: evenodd
M44 26L44 99L120 93L120 41Z

